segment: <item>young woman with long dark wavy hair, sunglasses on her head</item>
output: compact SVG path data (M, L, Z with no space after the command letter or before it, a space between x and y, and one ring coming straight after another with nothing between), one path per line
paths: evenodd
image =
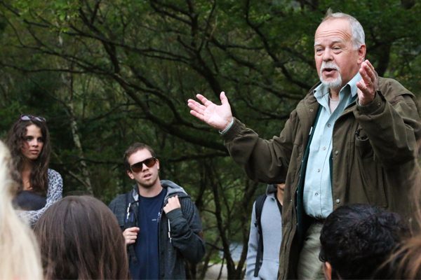
M8 132L7 145L13 158L13 179L20 186L15 204L23 210L20 216L33 226L62 198L62 177L48 169L51 144L46 119L21 115Z

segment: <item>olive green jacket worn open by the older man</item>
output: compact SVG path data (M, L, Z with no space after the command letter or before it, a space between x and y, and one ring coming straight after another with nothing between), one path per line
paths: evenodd
M319 109L313 94L315 87L290 113L279 137L260 139L239 120L234 120L223 136L230 155L250 179L276 183L286 178L279 279L297 277L301 244L298 232L303 228L305 231L305 151ZM333 208L367 203L410 217L409 192L418 170L420 137L414 95L396 80L379 78L373 102L359 106L356 100L335 122L330 169Z

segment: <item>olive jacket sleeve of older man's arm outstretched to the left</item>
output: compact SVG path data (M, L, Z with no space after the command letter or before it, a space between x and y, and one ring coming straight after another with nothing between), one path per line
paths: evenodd
M293 111L280 136L271 140L261 139L256 132L235 119L223 136L229 155L244 167L248 177L254 181L284 181L293 151L296 119L297 114Z

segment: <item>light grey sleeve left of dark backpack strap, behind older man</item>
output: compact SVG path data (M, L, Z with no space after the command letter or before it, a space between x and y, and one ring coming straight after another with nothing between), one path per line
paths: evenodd
M256 206L256 203L253 204L253 211L251 213L250 235L248 236L245 279L258 279L258 278L255 278L254 276L256 255L258 254L258 241L259 241L258 227L255 226L255 223L256 223L255 206Z

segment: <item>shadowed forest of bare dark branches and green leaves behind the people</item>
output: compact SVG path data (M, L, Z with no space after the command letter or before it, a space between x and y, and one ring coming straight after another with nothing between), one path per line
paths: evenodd
M0 136L21 113L44 116L64 194L106 204L131 189L125 149L149 144L161 179L183 186L201 214L207 253L192 274L223 262L240 279L265 185L246 178L187 99L219 103L225 91L234 116L263 138L279 134L318 81L314 31L329 7L361 22L380 76L420 96L417 0L9 0L0 1ZM240 260L232 242L245 245Z

